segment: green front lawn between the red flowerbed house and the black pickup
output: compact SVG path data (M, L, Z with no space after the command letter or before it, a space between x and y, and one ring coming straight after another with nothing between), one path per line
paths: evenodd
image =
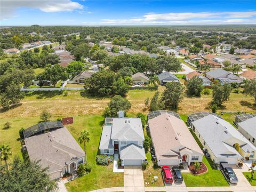
M192 130L190 130L193 137L195 138L199 147L203 147L200 141L197 139L196 135ZM206 159L203 157L203 162L207 166L208 172L201 175L193 175L190 173L183 173L183 180L187 187L222 187L229 186L228 182L222 175L220 170L212 169L211 159Z

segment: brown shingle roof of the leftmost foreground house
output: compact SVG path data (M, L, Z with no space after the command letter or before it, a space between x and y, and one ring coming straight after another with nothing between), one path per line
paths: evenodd
M49 166L50 172L61 170L71 159L85 156L66 127L26 138L25 144L30 160L41 159L39 164Z

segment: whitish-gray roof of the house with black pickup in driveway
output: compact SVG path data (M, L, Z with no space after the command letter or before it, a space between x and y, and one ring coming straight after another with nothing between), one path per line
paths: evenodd
M197 119L192 124L217 158L230 156L242 158L233 148L235 143L238 143L239 146L248 145L249 148L256 151L256 148L235 127L217 116L209 114Z

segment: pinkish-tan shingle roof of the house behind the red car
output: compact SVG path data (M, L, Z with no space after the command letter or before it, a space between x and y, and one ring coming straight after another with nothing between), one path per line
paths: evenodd
M186 124L180 118L165 112L149 119L148 125L157 158L178 157L183 148L202 154Z

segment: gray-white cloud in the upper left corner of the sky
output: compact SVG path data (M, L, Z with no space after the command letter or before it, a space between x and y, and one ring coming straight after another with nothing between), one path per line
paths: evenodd
M21 7L39 9L43 12L61 12L83 9L83 5L70 0L1 0L1 20L15 17L15 10Z

